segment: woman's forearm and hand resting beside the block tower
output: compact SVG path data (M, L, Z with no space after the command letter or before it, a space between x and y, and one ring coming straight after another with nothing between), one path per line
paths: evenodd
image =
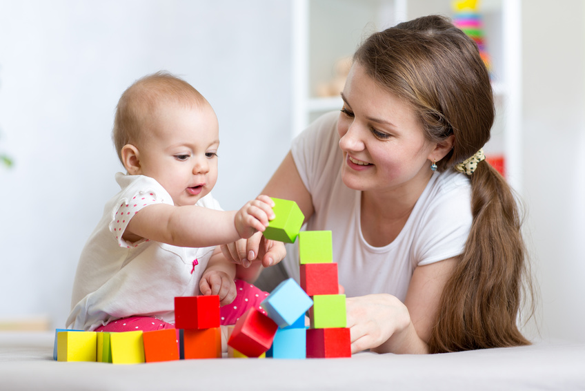
M347 299L352 352L428 353L439 301L456 258L415 269L404 303L389 294Z

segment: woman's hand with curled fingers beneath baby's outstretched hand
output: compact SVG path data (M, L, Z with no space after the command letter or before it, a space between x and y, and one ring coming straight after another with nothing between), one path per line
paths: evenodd
M250 267L253 261L258 261L264 267L276 265L286 256L283 242L266 239L261 232L257 232L248 239L221 245L224 256L237 265Z

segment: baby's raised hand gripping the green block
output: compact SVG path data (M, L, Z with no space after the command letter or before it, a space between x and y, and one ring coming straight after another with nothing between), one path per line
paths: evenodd
M275 203L268 196L258 196L237 211L234 223L240 238L250 238L256 231L264 232L268 221L275 218Z

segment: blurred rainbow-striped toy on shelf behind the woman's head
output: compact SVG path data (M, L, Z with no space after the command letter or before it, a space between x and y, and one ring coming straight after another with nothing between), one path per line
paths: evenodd
M491 73L490 57L484 39L484 23L479 13L479 0L455 0L453 11L455 12L453 24L475 41L479 48L479 55Z

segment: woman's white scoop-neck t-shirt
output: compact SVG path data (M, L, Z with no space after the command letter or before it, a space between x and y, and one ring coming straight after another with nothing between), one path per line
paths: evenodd
M338 115L319 118L291 148L313 198L306 230L333 232L333 261L348 297L388 293L404 301L415 267L462 254L473 220L470 181L457 171L435 172L397 238L384 247L369 245L361 233L361 191L341 180ZM298 281L298 240L287 251L284 267Z

